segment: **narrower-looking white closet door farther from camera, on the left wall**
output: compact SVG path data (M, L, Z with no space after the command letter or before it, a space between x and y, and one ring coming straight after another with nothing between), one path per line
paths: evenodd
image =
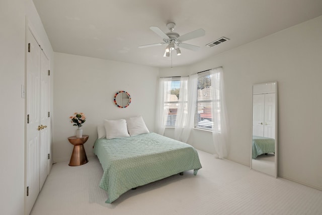
M41 51L41 75L40 75L40 184L41 189L49 171L49 60Z

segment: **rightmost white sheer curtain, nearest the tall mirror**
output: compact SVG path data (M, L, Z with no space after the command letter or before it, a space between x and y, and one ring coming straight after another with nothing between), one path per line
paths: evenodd
M224 98L223 70L222 67L210 70L212 94L212 138L219 159L228 155L228 116Z

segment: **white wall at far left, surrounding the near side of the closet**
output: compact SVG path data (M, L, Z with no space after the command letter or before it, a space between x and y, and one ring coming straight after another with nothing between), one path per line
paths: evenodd
M34 24L48 55L52 48L31 0L0 1L0 213L24 213L26 16Z

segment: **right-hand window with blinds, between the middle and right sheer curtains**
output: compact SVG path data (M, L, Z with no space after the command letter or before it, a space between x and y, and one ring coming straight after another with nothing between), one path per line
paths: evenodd
M197 92L195 127L212 130L212 98L211 79L209 71L204 71L198 74Z

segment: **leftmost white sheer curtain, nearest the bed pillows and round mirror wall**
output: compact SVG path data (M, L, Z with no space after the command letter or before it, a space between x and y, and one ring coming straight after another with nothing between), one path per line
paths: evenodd
M158 86L158 95L156 103L155 131L164 135L166 122L168 119L169 106L165 105L166 101L170 101L171 78L160 78Z

